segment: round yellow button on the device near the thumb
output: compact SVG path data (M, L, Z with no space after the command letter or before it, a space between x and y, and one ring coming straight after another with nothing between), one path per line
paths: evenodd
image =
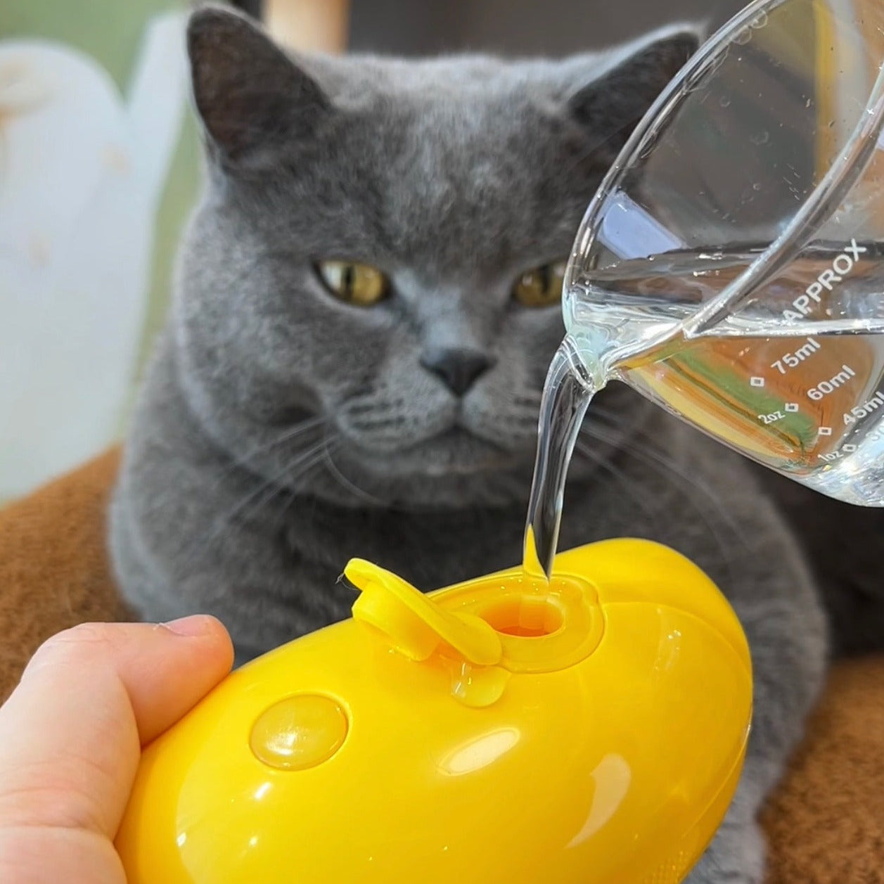
M347 715L337 701L295 694L261 713L248 743L265 765L298 771L327 761L346 736Z

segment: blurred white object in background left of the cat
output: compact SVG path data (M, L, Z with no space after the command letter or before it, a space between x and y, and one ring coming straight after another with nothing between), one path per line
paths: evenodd
M184 26L151 20L128 103L78 51L0 42L0 499L117 434L187 100Z

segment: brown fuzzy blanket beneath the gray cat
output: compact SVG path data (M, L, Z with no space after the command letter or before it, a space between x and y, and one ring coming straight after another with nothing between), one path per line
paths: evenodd
M127 619L108 569L111 451L0 510L0 701L44 638ZM768 884L884 882L884 657L842 662L769 802Z

